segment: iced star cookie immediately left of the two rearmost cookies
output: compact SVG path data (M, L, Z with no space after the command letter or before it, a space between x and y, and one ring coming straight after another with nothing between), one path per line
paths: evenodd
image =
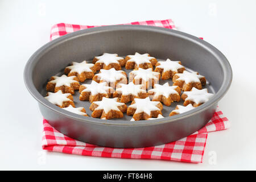
M84 82L86 79L93 78L96 68L94 64L86 63L86 61L72 62L71 66L64 69L64 73L68 76L76 76L80 82Z

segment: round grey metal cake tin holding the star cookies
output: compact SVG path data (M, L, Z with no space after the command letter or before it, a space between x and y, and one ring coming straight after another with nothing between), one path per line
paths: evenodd
M215 94L208 102L186 113L167 117L175 107L172 104L164 107L162 119L135 122L127 117L113 120L84 117L44 99L51 76L64 74L63 69L72 61L90 61L104 52L121 56L150 53L158 60L180 60L186 68L204 75L209 92ZM229 89L232 68L217 48L195 36L167 28L118 25L73 32L47 43L28 60L24 82L38 101L43 117L68 137L99 146L147 147L172 142L201 129L212 118L217 102ZM76 92L75 105L84 106L90 115L90 103L81 102L77 97Z

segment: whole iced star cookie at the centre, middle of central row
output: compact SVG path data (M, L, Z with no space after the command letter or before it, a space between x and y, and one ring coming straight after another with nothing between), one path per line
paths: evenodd
M118 84L113 97L118 97L119 101L123 103L133 101L134 98L146 98L147 92L142 89L142 86L134 85L133 82L129 82L129 84Z

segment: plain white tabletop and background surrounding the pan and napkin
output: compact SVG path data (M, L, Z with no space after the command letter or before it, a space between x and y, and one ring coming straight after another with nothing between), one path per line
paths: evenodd
M4 77L0 91L0 169L256 169L255 8L254 0L0 1ZM232 86L219 102L220 109L232 121L232 128L209 133L203 163L43 151L42 116L24 86L23 68L32 53L49 41L51 26L60 22L117 24L168 18L181 31L203 37L220 49L233 68Z

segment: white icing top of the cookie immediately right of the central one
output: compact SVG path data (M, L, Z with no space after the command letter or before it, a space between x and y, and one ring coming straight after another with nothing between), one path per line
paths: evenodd
M155 84L154 89L148 90L148 93L154 92L154 97L164 96L168 98L170 94L179 94L175 89L177 86L170 86L168 82L163 85Z

